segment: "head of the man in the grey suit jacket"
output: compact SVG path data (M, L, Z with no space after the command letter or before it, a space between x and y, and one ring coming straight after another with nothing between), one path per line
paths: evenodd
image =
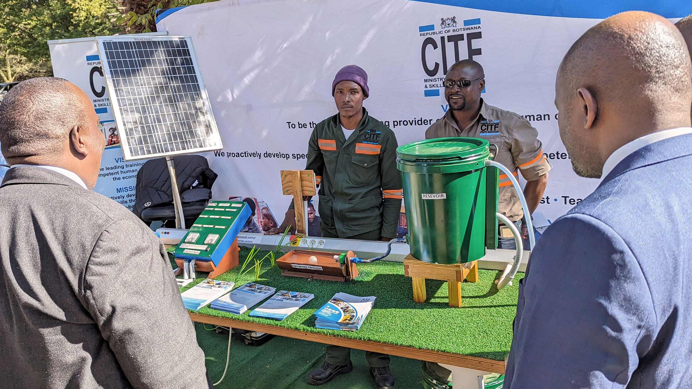
M20 82L0 104L0 148L10 165L66 168L93 188L103 147L91 100L67 80Z

